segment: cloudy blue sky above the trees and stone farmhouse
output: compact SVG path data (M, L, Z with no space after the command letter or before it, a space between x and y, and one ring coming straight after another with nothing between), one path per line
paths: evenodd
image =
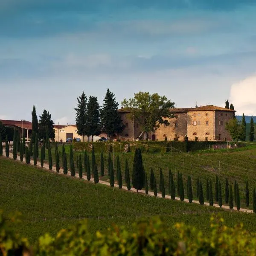
M256 116L253 0L0 0L0 119L43 109L74 124L82 91L102 105L139 91L177 108L233 103Z

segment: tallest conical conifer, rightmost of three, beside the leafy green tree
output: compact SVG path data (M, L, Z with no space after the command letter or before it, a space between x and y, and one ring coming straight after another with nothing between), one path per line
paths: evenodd
M104 103L100 110L101 129L108 134L108 140L114 134L119 134L124 129L122 119L118 113L118 103L115 95L107 90L104 98Z

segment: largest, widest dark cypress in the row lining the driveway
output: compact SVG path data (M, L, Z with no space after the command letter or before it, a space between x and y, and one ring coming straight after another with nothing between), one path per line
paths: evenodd
M143 173L143 162L142 162L142 156L140 148L137 148L134 155L135 161L133 165L133 171L132 171L132 185L137 190L141 190L143 188L144 184L144 173Z

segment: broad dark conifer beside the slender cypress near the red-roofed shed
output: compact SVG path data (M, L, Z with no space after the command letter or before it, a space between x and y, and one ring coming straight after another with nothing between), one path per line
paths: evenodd
M38 122L38 138L41 140L46 140L47 138L54 140L55 138L55 130L54 130L54 122L52 121L52 115L47 112L45 109L41 116L39 116ZM48 128L48 130L47 130ZM47 144L46 144L47 145Z

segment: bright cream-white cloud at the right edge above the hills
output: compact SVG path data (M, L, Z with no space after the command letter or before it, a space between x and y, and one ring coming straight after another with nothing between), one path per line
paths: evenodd
M256 75L247 77L231 86L230 103L233 103L237 115L256 116Z

